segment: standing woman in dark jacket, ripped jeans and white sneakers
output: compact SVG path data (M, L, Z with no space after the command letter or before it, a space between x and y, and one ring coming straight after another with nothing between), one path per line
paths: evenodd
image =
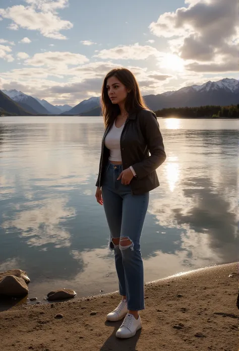
M156 115L147 110L134 75L112 69L102 86L105 131L102 139L97 202L104 206L114 250L120 295L106 319L125 317L116 336L129 338L142 327L144 272L140 237L149 203L149 191L159 185L156 168L166 159ZM150 156L149 156L150 152Z

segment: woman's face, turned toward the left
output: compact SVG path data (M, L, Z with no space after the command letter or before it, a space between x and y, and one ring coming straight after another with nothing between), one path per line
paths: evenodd
M127 88L116 77L113 76L107 79L106 89L112 104L122 104L126 100Z

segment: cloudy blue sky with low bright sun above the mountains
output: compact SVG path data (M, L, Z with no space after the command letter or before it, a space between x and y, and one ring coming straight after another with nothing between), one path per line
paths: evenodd
M0 89L54 105L127 67L143 95L238 79L238 0L0 0Z

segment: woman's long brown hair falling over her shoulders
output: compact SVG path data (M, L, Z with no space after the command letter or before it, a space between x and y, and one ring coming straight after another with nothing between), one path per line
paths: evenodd
M106 88L107 80L110 77L116 77L122 84L125 85L130 92L125 101L125 109L128 113L137 112L147 108L139 90L139 85L135 76L127 68L114 68L106 75L101 89L101 107L104 118L105 128L111 124L120 114L121 110L118 104L112 104Z

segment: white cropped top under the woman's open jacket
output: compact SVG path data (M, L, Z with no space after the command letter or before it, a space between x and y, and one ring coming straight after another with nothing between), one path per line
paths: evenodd
M104 139L104 145L109 149L109 161L120 161L122 162L121 157L121 134L124 128L125 123L117 128L115 126L115 121L113 122L112 127L107 133Z

